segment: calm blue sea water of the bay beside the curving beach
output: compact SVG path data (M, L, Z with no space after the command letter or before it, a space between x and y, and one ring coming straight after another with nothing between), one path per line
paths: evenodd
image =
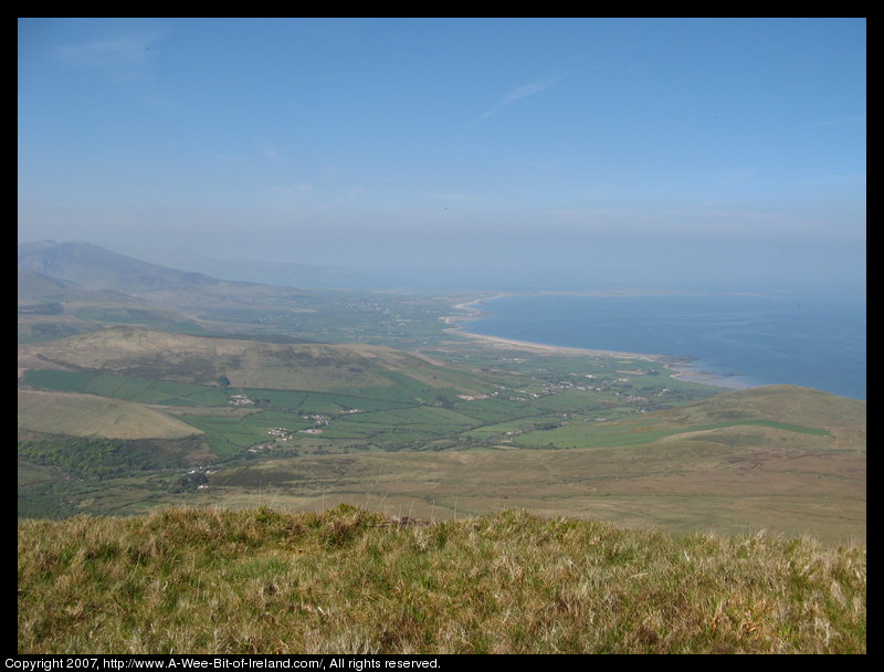
M865 300L757 295L527 295L480 304L475 334L546 345L692 357L744 386L866 393Z

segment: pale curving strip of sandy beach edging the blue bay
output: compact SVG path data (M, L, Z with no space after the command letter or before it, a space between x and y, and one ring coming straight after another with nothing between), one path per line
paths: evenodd
M601 350L601 349L592 349L592 348L578 348L578 347L570 347L570 346L560 346L560 345L548 345L543 343L533 343L528 340L516 340L513 338L503 338L501 336L488 336L486 334L475 334L473 332L467 330L466 326L463 323L467 323L474 319L480 319L485 313L481 308L476 307L476 304L480 304L485 301L492 301L495 298L505 298L509 296L540 296L545 294L564 294L559 292L498 292L496 294L492 294L488 296L481 296L478 298L472 298L470 301L465 301L463 303L453 304L452 307L459 311L467 311L469 314L466 315L450 315L444 318L444 323L448 326L445 332L451 334L455 334L457 336L463 336L470 338L471 340L484 344L490 347L496 348L506 348L511 350L523 350L536 354L559 354L559 355L582 355L589 357L615 357L620 359L645 359L649 361L654 361L656 364L662 365L666 369L671 371L670 376L672 378L677 378L680 380L685 380L687 382L696 382L699 385L708 385L712 387L719 387L726 389L734 389L734 390L741 390L748 389L750 387L755 387L753 385L748 385L738 380L737 376L720 376L718 374L712 374L709 371L703 371L694 366L692 366L692 361L694 359L690 357L680 357L673 355L655 355L651 353L623 353L619 350ZM576 294L576 293L567 293L567 294ZM601 293L579 293L585 295L600 295Z

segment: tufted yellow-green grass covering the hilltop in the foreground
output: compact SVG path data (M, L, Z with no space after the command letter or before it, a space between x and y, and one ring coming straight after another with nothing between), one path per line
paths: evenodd
M865 652L866 550L514 510L19 525L19 652Z

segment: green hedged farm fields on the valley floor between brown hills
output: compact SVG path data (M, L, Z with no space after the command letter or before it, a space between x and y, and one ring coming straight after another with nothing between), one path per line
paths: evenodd
M120 336L128 338L130 332L120 332ZM164 347L170 337L164 337ZM207 339L178 339L177 343L193 347L196 344L209 343ZM101 342L107 344L107 340ZM113 344L110 347L115 347ZM259 346L248 346L253 351ZM303 353L302 349L296 350ZM77 353L74 350L72 361ZM358 350L357 350L358 351ZM346 353L346 359L351 363L351 355ZM388 357L386 351L380 351L382 357ZM646 398L640 401L624 403L618 395L625 389L620 382L615 386L615 393L577 387L586 378L579 366L586 363L575 360L557 361L556 358L547 360L547 366L528 375L518 371L516 378L513 374L501 374L487 367L452 368L442 366L428 366L422 360L414 360L410 366L402 366L401 357L389 359L386 368L372 371L373 379L382 382L375 386L346 386L334 391L332 387L337 375L326 376L334 360L329 359L332 351L318 350L311 355L313 359L304 358L298 361L309 364L318 361L315 369L319 389L273 389L232 387L229 385L198 385L175 380L147 379L139 376L118 375L101 371L66 371L57 369L29 369L22 376L22 382L40 389L59 390L97 395L102 397L123 399L126 401L170 407L167 412L173 413L178 419L188 422L197 430L204 432L207 440L219 458L229 459L242 454L256 444L267 442L267 430L282 427L292 430L293 435L285 445L275 441L273 447L262 450L271 452L282 451L291 454L295 450L307 452L320 451L348 451L348 450L402 450L421 449L427 445L445 445L449 448L475 448L485 440L506 441L506 432L523 432L516 444L526 448L557 448L592 444L622 444L611 443L604 431L597 431L593 438L571 437L576 430L569 432L541 431L524 434L524 430L537 428L558 427L562 414L585 414L589 418L598 413L607 416L634 416L638 403L648 405ZM59 354L53 355L57 357ZM278 351L267 350L263 358L252 360L252 370L269 371L275 366L277 374L270 375L276 379L280 374L287 370L288 358L280 358ZM82 359L82 358L81 358ZM604 361L604 360L602 360ZM609 366L623 363L614 361ZM631 363L635 366L635 363ZM565 366L569 369L565 370ZM575 365L578 365L577 367ZM241 369L243 364L235 359L233 366ZM335 365L337 366L337 365ZM350 364L341 365L350 366ZM126 368L126 367L124 367ZM129 367L131 368L131 367ZM186 371L187 369L181 369ZM598 370L593 369L593 370ZM180 374L180 371L179 371ZM615 369L608 374L598 372L593 380L604 382L604 376L620 376ZM199 374L194 374L199 377ZM245 374L254 377L254 374ZM323 376L326 376L323 378ZM302 380L303 376L295 377ZM649 378L657 382L656 378ZM664 381L660 381L660 387ZM613 385L613 379L608 384ZM242 407L239 413L230 408L234 395L246 397L252 403ZM466 400L469 399L469 400ZM204 413L188 411L188 408L228 409L228 413ZM245 411L250 411L248 414ZM625 413L625 414L624 414ZM305 421L305 416L323 416L322 427L316 427L311 421ZM514 422L515 421L515 422ZM571 423L571 427L575 427ZM313 428L315 433L304 430ZM614 432L617 433L617 432ZM499 435L496 435L499 434ZM663 434L661 434L663 435ZM643 438L655 438L649 434ZM629 442L630 437L625 437ZM440 443L442 442L442 443Z

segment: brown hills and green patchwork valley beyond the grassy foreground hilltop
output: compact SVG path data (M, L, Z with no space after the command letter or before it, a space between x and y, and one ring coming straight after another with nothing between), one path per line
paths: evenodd
M719 393L654 361L463 342L428 357L130 327L22 345L19 370L20 515L518 506L865 538L865 403L804 388Z

